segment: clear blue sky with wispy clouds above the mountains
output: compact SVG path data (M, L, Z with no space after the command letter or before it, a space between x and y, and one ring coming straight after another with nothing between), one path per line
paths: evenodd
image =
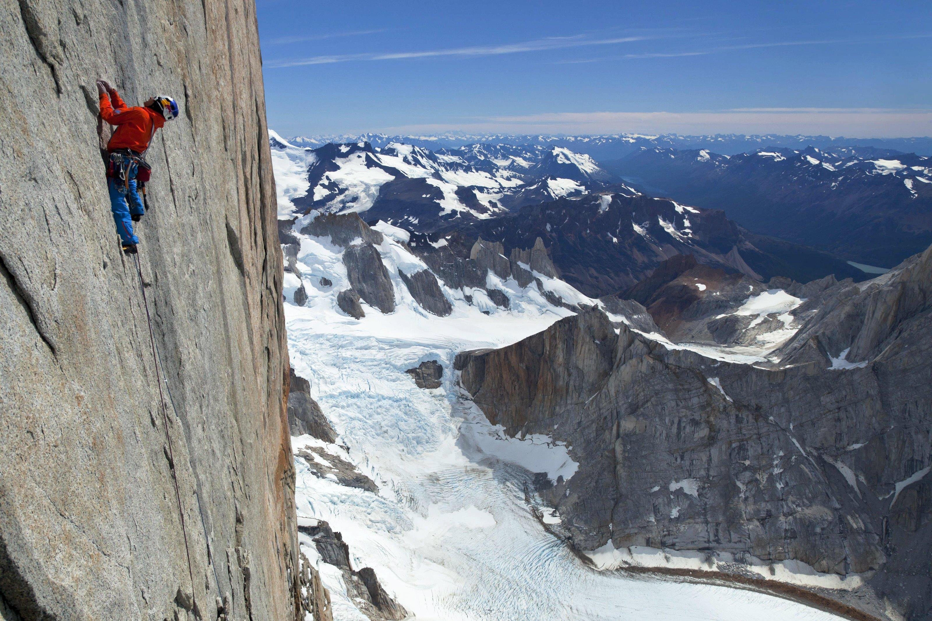
M932 135L927 0L256 4L285 135Z

